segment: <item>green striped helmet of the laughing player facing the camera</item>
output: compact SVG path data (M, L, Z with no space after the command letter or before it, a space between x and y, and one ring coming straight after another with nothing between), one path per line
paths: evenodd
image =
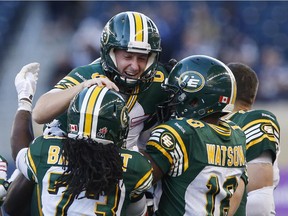
M138 79L124 76L118 71L115 49L149 55L145 71ZM115 15L105 25L101 35L101 64L107 76L124 94L138 94L150 86L161 50L157 26L142 13L127 11Z

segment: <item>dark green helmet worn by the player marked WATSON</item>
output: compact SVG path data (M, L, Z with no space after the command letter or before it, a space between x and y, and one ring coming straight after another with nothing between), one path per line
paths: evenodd
M213 113L233 111L236 81L221 61L193 55L179 61L171 70L164 88L172 91L166 106L178 117L201 119Z

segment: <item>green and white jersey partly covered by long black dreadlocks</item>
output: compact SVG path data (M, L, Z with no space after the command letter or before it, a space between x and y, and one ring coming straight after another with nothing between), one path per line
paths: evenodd
M27 167L21 170L37 184L37 196L43 215L126 215L126 207L133 200L143 196L152 186L152 166L140 153L120 149L123 158L123 179L108 196L98 199L71 198L65 187L53 188L64 172L61 146L64 138L41 136L30 145L25 155ZM26 173L26 174L25 174ZM42 214L42 213L40 213Z

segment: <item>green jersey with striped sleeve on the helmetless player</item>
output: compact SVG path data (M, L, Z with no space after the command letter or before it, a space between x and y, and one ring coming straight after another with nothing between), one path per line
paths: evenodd
M238 111L225 117L239 125L246 135L247 162L259 157L264 151L269 151L274 163L280 153L280 127L276 116L266 110ZM279 182L277 162L273 165L274 185ZM241 204L235 216L246 215L247 192L243 195Z

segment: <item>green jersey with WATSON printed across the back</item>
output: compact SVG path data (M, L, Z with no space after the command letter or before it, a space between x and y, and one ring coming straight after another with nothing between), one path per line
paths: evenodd
M225 215L247 181L245 134L230 121L170 120L153 129L146 151L164 173L156 215Z

